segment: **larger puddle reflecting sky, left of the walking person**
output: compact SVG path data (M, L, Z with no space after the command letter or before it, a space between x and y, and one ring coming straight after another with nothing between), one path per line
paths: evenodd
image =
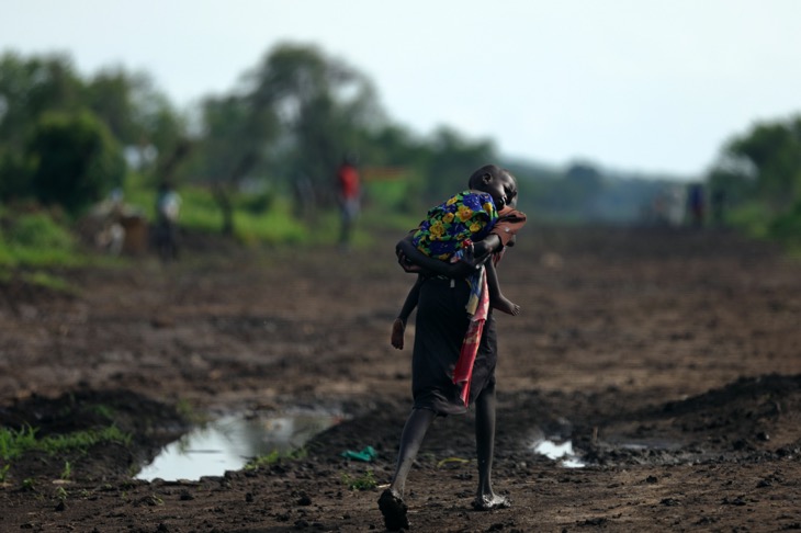
M222 476L259 455L296 450L341 420L339 415L319 412L221 418L167 445L136 478L151 481Z

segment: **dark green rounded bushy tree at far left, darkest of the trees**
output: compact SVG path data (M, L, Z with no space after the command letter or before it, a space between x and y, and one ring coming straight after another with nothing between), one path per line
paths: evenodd
M120 184L122 151L90 112L43 115L26 144L31 192L45 205L79 214Z

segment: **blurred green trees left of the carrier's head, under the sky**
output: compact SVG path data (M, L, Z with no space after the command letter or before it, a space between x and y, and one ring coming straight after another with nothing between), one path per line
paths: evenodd
M404 168L418 199L463 188L474 168L497 159L489 140L447 127L422 138L393 122L364 75L315 46L274 47L230 91L184 112L145 73L82 77L64 54L0 57L5 204L33 200L79 215L136 171L154 188L208 186L230 231L232 195L246 184L292 194L308 183L325 207L336 167L352 154Z

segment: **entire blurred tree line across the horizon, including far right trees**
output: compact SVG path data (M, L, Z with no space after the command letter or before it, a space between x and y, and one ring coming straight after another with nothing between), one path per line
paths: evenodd
M147 73L115 67L81 76L66 54L0 56L5 205L33 201L79 216L137 172L154 190L160 183L207 186L223 231L233 233L234 199L244 189L300 193L313 208L330 206L334 169L351 154L364 168L403 169L407 200L394 207L408 212L462 189L481 165L504 163L490 139L447 126L427 136L410 132L382 109L370 79L313 45L275 46L229 91L183 111ZM670 184L614 178L591 162L505 166L521 181L521 208L534 216L569 214L575 222L632 220ZM723 146L698 178L731 213L758 214L752 222L761 220L766 233L796 231L801 118L755 125Z

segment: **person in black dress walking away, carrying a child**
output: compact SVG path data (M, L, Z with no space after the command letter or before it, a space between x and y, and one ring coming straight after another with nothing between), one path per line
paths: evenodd
M496 209L517 196L517 183L507 171L492 167L489 172L504 183ZM471 180L472 182L473 180ZM514 236L509 231L484 237L493 259L503 252ZM495 366L498 358L497 332L488 305L488 287L481 290L480 305L471 317L465 305L472 287L467 277L475 272L476 257L467 254L451 263L426 256L411 243L413 236L397 246L398 262L406 272L422 274L417 299L417 330L411 362L414 407L400 435L395 474L390 488L379 498L379 509L387 530L408 529L407 506L404 502L406 477L431 423L438 416L463 415L475 406L475 439L478 457L478 487L473 501L476 510L488 511L509 507L509 499L496 494L492 486L495 453ZM476 325L481 327L476 328ZM469 353L470 352L470 353ZM471 355L472 360L465 358ZM465 365L467 361L467 365Z

